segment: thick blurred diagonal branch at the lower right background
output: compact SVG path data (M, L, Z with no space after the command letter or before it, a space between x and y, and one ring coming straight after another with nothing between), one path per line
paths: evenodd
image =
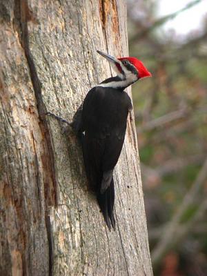
M179 206L179 209L177 210L177 213L175 213L174 217L172 217L168 226L165 228L164 233L162 233L161 240L154 248L154 250L152 250L152 262L154 263L154 265L156 265L159 262L159 259L161 259L161 257L166 253L168 248L170 248L172 244L174 244L175 239L179 238L177 236L178 235L177 228L179 227L181 218L183 217L184 213L186 212L190 204L193 203L196 195L201 190L201 187L204 185L204 181L206 177L207 177L207 159L204 162L204 165L202 166L201 170L199 171L197 179L195 179L195 182L193 183L190 190L184 197L181 205ZM199 207L199 210L197 211L197 214L199 214L201 211L203 212L205 208L206 208L206 201L204 201L204 203L201 204L201 206ZM191 225L192 225L192 222L188 222L188 226L186 227L189 227ZM183 231L183 234L185 231Z

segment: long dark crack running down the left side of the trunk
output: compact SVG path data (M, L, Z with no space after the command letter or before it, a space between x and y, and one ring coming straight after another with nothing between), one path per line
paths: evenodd
M34 95L37 100L37 111L39 114L39 127L41 129L43 137L46 140L46 159L50 164L52 187L50 184L46 184L44 181L44 191L45 191L45 202L46 202L46 231L48 236L48 255L49 255L49 275L52 275L52 264L53 264L53 246L52 246L52 232L50 224L50 216L48 215L48 206L57 206L57 181L55 176L55 158L52 149L52 141L50 139L50 132L48 129L48 124L46 121L46 106L43 103L41 94L41 83L37 75L37 70L34 65L34 60L30 52L29 46L29 34L28 34L28 21L35 21L32 12L28 8L27 0L14 0L14 23L17 23L16 28L18 28L19 41L25 52L26 60L28 62L28 67L30 70L30 78L32 81L32 86L34 89ZM36 152L35 152L36 153ZM46 168L47 169L47 168ZM49 193L48 193L49 190Z

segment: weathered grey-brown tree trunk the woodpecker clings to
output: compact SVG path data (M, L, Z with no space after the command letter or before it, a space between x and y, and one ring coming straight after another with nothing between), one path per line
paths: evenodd
M0 275L152 275L134 115L115 170L117 230L88 190L72 120L128 55L124 0L1 0ZM128 90L130 93L130 90Z

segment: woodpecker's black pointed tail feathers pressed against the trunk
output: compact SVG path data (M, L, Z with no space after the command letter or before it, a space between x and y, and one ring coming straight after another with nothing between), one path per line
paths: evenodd
M101 208L101 212L103 213L103 218L106 221L106 225L110 229L115 229L115 217L113 214L114 205L115 205L115 186L113 178L110 181L110 185L103 192L99 191L97 194L97 201L99 207Z

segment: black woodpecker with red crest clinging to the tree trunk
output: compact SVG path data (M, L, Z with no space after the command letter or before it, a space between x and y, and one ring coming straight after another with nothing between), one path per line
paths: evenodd
M110 62L117 76L102 81L88 92L70 126L81 137L86 175L96 191L103 218L109 229L111 226L115 229L113 171L124 143L128 111L132 109L124 89L151 74L135 57L116 59L97 52Z

